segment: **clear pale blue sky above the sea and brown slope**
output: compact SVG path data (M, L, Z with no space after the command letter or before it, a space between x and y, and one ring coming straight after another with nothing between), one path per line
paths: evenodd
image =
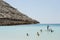
M41 24L60 23L60 0L5 0Z

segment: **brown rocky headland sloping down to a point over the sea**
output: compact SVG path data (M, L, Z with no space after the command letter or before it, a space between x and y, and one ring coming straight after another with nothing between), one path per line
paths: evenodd
M16 8L0 0L0 25L36 24L36 20L29 18Z

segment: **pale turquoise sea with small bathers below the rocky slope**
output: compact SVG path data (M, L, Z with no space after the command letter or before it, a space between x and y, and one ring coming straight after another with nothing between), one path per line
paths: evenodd
M0 40L60 40L60 24L0 26Z

